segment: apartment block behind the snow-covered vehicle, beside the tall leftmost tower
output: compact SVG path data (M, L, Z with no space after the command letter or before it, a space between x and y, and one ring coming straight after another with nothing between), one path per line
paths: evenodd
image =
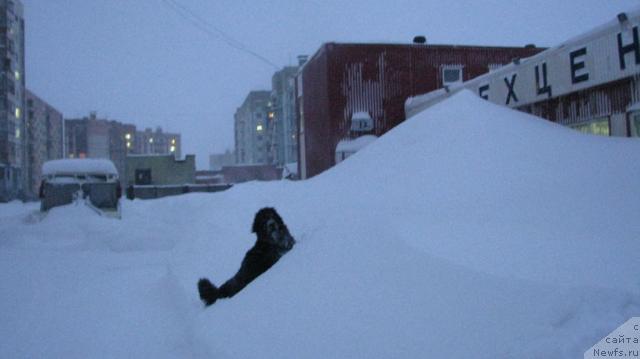
M27 172L28 195L38 193L42 164L63 157L62 113L27 90Z

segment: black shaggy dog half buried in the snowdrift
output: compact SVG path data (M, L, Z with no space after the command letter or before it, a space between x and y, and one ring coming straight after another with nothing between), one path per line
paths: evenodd
M217 288L207 278L198 281L200 299L209 306L219 298L231 298L260 274L271 268L296 243L274 208L262 208L253 220L258 239L242 260L238 273Z

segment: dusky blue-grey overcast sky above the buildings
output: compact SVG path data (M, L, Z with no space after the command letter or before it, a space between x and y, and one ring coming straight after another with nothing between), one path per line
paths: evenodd
M179 7L207 24L187 20ZM27 87L66 118L180 132L198 169L233 148L233 114L324 42L553 46L637 0L23 0ZM185 10L182 10L185 11ZM203 31L205 29L206 31ZM221 30L225 39L217 31ZM237 45L236 45L237 47Z

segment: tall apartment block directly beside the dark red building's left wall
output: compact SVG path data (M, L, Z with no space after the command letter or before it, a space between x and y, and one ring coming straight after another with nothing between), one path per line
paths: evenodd
M271 79L271 106L267 117L269 163L284 165L298 161L295 76L297 66L287 66Z

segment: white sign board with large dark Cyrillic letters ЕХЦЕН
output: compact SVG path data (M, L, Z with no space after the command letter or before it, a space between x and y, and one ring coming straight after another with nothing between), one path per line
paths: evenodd
M466 82L480 97L509 107L535 103L640 74L640 13Z

